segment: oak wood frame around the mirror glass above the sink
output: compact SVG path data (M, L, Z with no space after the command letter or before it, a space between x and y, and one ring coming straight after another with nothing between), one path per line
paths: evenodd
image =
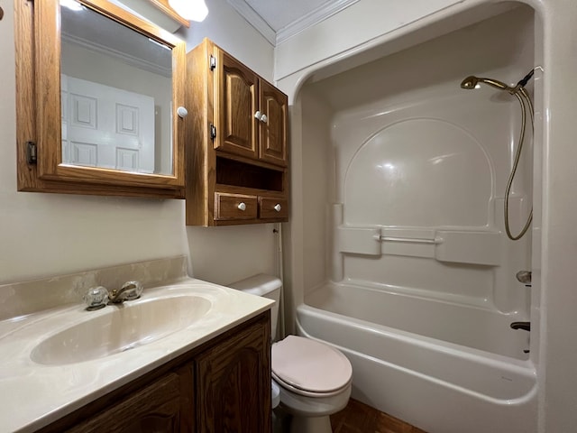
M173 174L136 173L62 164L60 122L60 2L14 0L18 190L184 198L186 44L106 0L78 0L98 14L172 49ZM31 161L28 143L35 143Z

